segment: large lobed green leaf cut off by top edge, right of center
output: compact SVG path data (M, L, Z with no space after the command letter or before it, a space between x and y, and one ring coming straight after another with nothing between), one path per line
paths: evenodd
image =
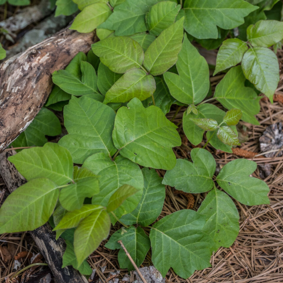
M217 38L217 26L233 29L243 24L249 13L258 9L243 0L185 0L185 30L196 38Z

